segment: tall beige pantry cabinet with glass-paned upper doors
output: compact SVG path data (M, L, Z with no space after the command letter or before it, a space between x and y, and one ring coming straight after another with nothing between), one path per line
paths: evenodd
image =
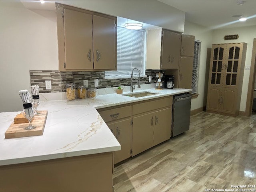
M246 43L212 45L207 112L239 114L246 48Z

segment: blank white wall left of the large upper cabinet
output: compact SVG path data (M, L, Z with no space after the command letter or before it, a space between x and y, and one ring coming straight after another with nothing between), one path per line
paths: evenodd
M0 1L0 112L22 110L18 91L30 90L29 70L58 70L56 16Z

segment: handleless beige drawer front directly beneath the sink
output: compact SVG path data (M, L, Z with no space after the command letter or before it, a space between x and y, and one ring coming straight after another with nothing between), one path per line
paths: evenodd
M172 96L168 98L163 98L163 99L157 99L154 101L146 101L142 102L140 104L134 104L132 108L132 114L140 114L164 107L170 107L172 106Z

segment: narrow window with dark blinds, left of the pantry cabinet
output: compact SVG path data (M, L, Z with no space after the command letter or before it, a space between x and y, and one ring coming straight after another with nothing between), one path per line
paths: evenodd
M198 75L199 75L199 59L200 59L201 41L195 40L194 43L194 60L192 72L192 94L198 93Z

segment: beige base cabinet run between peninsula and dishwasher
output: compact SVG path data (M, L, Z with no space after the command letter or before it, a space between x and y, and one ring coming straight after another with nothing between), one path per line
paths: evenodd
M98 110L121 145L114 152L114 164L170 139L172 99L167 96Z

